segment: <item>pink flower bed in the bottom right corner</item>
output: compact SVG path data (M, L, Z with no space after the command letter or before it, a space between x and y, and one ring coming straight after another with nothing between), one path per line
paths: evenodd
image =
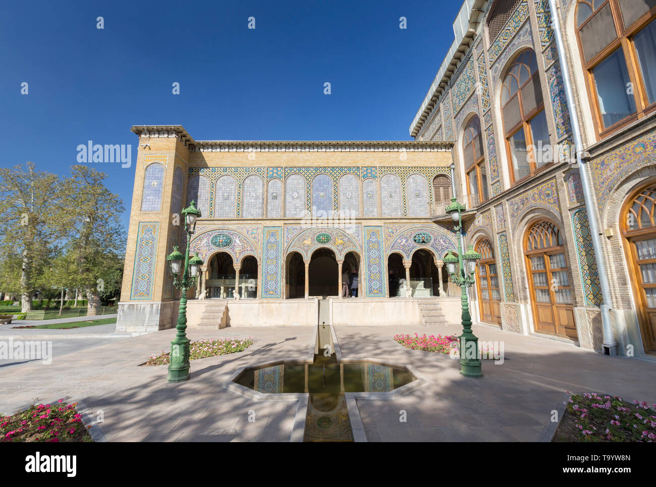
M554 441L656 441L656 412L647 402L631 404L618 396L584 393L572 395L563 404L567 410Z

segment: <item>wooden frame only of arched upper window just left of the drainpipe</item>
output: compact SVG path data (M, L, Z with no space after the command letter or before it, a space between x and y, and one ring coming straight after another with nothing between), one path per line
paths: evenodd
M530 47L527 49L523 49L520 52L518 52L512 62L510 63L510 66L508 66L508 69L506 69L506 77L508 76L508 71L512 68L516 60L522 56L524 52L527 52L529 50L532 50L533 53L535 54L535 59L536 59L536 64L537 64L537 53L535 53L535 50L531 49ZM501 127L504 126L503 123L503 110L512 100L514 100L515 97L518 97L519 100L519 106L520 106L520 121L514 125L514 127L510 127L508 130L504 130L504 145L506 146L506 154L508 157L508 174L510 174L510 185L516 185L520 184L526 180L529 180L533 176L536 176L537 174L540 174L544 170L548 169L550 166L554 165L554 161L551 161L548 164L544 164L542 166L537 166L535 164L535 154L533 153L533 150L530 149L530 147L533 146L533 132L531 131L531 121L539 115L541 111L544 111L544 96L542 97L543 100L540 102L534 109L529 111L529 113L524 113L524 106L523 106L523 101L522 101L522 89L529 85L529 83L533 82L533 78L538 77L539 81L540 79L540 69L536 69L535 73L533 73L529 79L525 81L525 83L521 86L519 86L518 83L518 88L517 91L508 98L508 101L501 106ZM504 81L502 83L501 90L504 90L506 88L506 77L504 77ZM540 89L542 89L542 83L539 83ZM508 90L510 91L510 90ZM500 98L501 100L501 98ZM546 116L546 113L544 114ZM512 149L510 147L510 138L514 136L517 132L520 130L523 130L524 132L524 139L526 140L526 148L527 148L527 156L529 158L529 174L527 176L524 176L523 178L517 179L515 175L515 168L512 166ZM551 135L551 134L550 134Z

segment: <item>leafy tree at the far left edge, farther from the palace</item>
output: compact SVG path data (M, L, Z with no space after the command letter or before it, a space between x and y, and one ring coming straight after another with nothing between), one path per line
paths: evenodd
M22 311L32 309L35 282L62 235L62 208L55 174L35 171L33 163L0 168L0 252L20 256Z

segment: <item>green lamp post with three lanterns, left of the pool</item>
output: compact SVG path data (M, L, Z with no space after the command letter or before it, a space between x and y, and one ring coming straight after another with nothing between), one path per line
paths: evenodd
M187 290L194 287L198 269L203 265L203 260L195 254L193 258L189 258L189 245L191 243L192 235L196 229L196 220L201 216L201 212L197 210L194 201L190 203L189 208L182 210L182 218L184 218L184 230L187 234L187 248L184 255L180 253L178 246L173 247L173 252L167 256L166 260L171 264L171 273L173 273L173 285L180 289L180 309L178 311L178 323L175 329L177 330L175 338L171 341L171 355L169 357L169 382L182 382L189 380L189 339L185 333L187 329ZM182 268L182 281L178 281L180 274L180 267L184 261Z

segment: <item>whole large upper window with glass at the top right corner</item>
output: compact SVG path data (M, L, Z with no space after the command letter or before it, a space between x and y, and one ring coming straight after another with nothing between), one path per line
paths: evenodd
M600 136L656 109L656 3L580 0L576 26Z

